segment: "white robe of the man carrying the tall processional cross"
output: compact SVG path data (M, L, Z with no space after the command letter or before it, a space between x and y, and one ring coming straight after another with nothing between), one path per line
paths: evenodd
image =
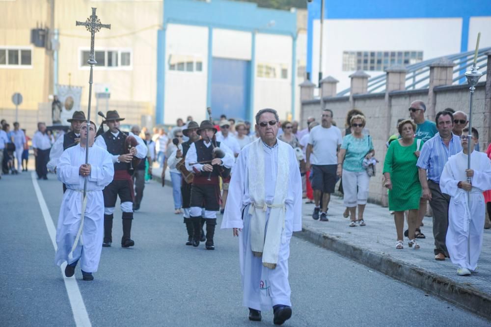
M81 241L73 251L73 259L68 258L72 245L79 231L82 213L82 196L84 177L79 175L79 168L85 164L85 148L80 144L66 149L59 158L56 175L67 190L63 194L58 225L56 228L55 264L60 266L80 260L84 272L94 273L101 258L104 238L104 196L102 190L114 177L114 165L108 151L93 145L89 148L88 163L91 166L87 177L87 206L82 227Z

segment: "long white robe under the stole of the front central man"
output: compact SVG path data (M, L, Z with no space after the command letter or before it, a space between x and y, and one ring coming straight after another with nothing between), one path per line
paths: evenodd
M262 143L261 140L258 140ZM281 142L278 140L278 142ZM256 310L268 310L273 305L291 306L290 284L288 282L288 257L290 256L290 239L294 231L302 229L301 200L302 182L297 157L291 146L288 146L289 176L288 190L285 199L285 226L281 234L278 261L275 269L263 266L262 258L252 254L250 242L249 208L249 168L248 154L251 145L247 144L241 151L230 181L227 203L223 214L221 228L243 228L239 232L239 260L244 289L243 304ZM265 201L273 204L276 176L278 171L278 143L273 148L262 143L265 164ZM256 209L258 210L258 209ZM271 208L266 211L269 218ZM268 224L266 224L266 230Z

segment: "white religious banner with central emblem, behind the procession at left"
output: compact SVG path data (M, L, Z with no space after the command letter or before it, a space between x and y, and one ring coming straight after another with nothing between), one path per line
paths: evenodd
M57 102L53 102L53 124L70 125L70 119L74 111L80 110L82 98L82 86L56 85L58 89ZM60 111L61 109L61 111Z

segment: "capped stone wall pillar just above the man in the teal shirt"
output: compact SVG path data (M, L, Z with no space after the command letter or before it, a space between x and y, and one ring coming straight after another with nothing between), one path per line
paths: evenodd
M454 62L442 57L430 64L430 86L428 88L427 118L435 121L436 94L434 88L439 85L452 85Z

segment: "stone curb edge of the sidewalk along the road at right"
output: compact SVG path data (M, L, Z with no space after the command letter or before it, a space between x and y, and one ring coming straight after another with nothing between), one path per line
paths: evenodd
M302 228L301 232L293 235L491 320L491 295L472 286L457 283L390 255L366 250L326 233Z

